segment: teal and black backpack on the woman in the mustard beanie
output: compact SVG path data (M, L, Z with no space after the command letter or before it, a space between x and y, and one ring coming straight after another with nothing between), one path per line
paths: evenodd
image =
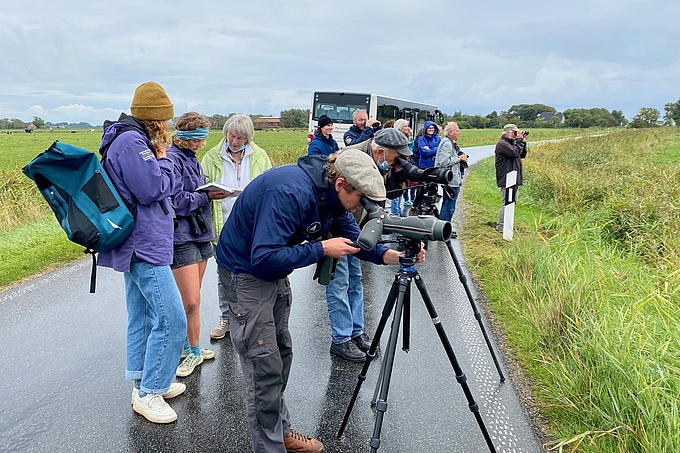
M127 239L134 209L120 196L97 155L86 149L55 141L22 171L38 186L69 240L92 255L94 293L95 254L110 252Z

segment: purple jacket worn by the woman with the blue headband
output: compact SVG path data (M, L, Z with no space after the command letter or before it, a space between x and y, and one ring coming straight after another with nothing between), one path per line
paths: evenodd
M175 228L175 244L187 242L208 242L215 238L212 231L210 213L210 197L207 193L196 192L196 187L205 184L203 168L196 159L196 153L188 149L180 149L174 144L168 149L168 159L175 166L176 184L172 193L172 205L177 216ZM208 231L200 236L191 233L189 215L198 208L203 208L205 225Z

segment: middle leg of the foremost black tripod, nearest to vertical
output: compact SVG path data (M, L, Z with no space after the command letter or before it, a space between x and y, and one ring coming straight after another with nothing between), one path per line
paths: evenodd
M387 394L390 390L390 379L392 378L392 367L394 366L394 355L397 349L397 340L399 337L399 325L401 324L401 315L404 308L404 299L408 292L408 287L411 280L405 275L399 278L399 294L397 295L397 303L394 307L394 317L392 318L392 327L390 337L387 342L387 350L383 356L383 376L380 382L380 395L376 401L376 416L375 426L373 427L373 437L369 446L371 453L376 453L380 448L380 431L382 429L382 421L387 411Z

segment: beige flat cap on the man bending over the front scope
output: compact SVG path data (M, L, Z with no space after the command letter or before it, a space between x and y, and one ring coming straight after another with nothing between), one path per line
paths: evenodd
M383 179L375 161L359 149L344 149L338 152L335 168L366 198L373 201L387 200L385 180Z

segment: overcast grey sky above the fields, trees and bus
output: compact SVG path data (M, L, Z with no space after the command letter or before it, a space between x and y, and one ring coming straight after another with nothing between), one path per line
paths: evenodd
M278 116L314 90L486 115L632 118L680 99L677 0L5 0L0 118L102 124L160 83L175 115Z

